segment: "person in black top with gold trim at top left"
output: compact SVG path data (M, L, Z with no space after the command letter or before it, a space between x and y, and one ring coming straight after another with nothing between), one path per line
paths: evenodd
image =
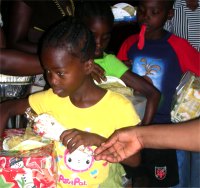
M64 16L73 15L75 9L73 0L17 0L5 3L7 3L8 9L6 17L7 47L36 55L38 43L44 31ZM29 62L27 61L27 63ZM43 74L37 74L31 90L32 92L43 90L45 85Z

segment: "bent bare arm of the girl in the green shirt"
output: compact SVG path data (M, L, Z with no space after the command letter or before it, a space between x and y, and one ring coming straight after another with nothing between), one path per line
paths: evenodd
M146 97L146 109L141 125L149 124L157 110L160 101L160 92L153 86L153 84L150 84L143 77L132 73L130 70L126 71L122 75L121 79L127 86L133 88L135 91L138 91Z

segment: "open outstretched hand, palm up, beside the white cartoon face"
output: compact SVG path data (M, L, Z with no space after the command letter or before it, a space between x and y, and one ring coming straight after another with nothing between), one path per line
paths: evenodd
M134 130L135 127L116 130L95 150L95 159L117 163L137 153L142 149L142 145Z

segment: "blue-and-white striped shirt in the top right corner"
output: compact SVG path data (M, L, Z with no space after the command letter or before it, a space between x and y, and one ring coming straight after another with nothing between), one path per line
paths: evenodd
M190 44L200 51L200 3L192 11L186 6L185 0L176 0L174 17L165 24L165 29L175 35L187 39Z

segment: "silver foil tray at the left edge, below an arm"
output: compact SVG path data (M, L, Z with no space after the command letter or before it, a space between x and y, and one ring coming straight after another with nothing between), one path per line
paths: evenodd
M33 76L0 74L0 97L21 97L27 92L33 81Z

